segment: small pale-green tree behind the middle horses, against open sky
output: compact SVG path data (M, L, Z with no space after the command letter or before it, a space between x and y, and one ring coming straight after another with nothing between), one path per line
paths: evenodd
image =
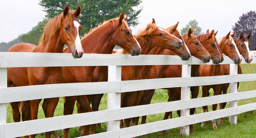
M180 30L181 35L188 33L190 28L194 29L194 35L204 34L202 28L198 26L198 22L196 20L190 20L189 23Z

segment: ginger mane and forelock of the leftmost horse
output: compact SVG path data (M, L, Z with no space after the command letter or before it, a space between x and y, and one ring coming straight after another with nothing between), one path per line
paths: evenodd
M76 17L75 11L76 10L69 10L68 14L66 15L67 23L70 26L72 25L73 17ZM38 44L44 43L45 40L49 40L49 37L54 35L54 33L60 29L62 18L64 18L63 12L61 12L60 15L55 16L54 19L47 22L46 26L44 26L44 32Z

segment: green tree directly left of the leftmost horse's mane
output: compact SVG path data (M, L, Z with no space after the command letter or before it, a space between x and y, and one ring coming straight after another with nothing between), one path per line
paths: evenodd
M18 38L23 43L32 43L34 45L38 45L38 42L44 32L44 26L48 22L48 18L44 18L44 20L40 21L35 27L32 28L26 34L20 35Z

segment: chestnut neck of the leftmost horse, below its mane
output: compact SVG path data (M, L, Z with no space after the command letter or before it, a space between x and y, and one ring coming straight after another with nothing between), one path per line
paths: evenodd
M47 52L47 53L63 53L64 43L60 37L60 30L49 37L49 40L44 40L39 44L33 52Z

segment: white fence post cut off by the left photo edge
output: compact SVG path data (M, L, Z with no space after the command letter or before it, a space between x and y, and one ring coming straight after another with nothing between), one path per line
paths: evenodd
M0 88L7 87L7 68L0 68ZM0 103L0 124L6 124L7 103ZM0 138L4 138L4 128L0 128Z

